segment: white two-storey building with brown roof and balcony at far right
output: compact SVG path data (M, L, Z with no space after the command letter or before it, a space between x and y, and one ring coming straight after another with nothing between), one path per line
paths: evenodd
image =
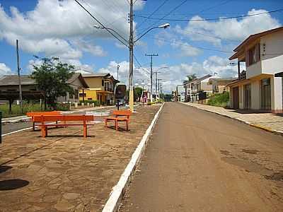
M246 78L229 84L230 105L235 109L283 112L283 27L250 35L229 59L246 63Z

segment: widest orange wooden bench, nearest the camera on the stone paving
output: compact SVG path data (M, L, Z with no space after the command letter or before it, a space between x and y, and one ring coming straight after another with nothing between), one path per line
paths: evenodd
M40 122L41 124L41 133L42 138L45 138L47 136L47 127L48 126L83 126L83 137L86 138L88 135L88 125L93 124L86 124L86 122L93 121L94 117L93 115L81 115L81 114L73 114L73 115L40 115L40 116L34 116L35 122ZM56 122L56 121L62 121L64 124L50 124L45 122ZM66 122L71 121L82 121L83 124L66 124Z

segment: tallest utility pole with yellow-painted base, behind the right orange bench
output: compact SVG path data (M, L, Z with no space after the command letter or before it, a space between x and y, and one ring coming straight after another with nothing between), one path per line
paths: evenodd
M134 39L133 39L133 0L129 1L129 109L134 111Z

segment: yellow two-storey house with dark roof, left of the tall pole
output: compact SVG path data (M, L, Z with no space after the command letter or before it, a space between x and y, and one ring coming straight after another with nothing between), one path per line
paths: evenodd
M79 100L98 100L100 105L114 103L114 88L118 82L110 73L83 73L88 89L79 90Z

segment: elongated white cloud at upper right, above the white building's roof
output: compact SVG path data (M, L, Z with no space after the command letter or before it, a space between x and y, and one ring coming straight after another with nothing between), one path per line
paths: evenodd
M256 13L265 13L264 9L252 9L248 11L248 15ZM221 17L220 17L221 18ZM265 13L259 16L249 16L241 19L219 19L216 21L193 21L195 19L202 19L200 16L194 16L191 18L185 28L177 26L176 32L181 35L190 37L191 40L206 41L213 45L221 45L224 39L227 39L233 44L237 44L235 41L241 42L250 34L260 33L265 30L277 28L280 23L275 18L272 18L269 13Z

